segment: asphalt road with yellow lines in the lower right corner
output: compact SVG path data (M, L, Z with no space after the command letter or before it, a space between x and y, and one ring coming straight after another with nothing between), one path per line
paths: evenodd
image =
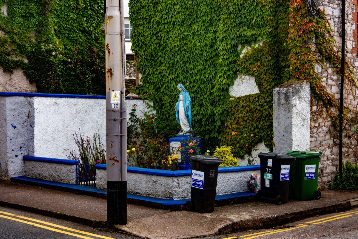
M277 228L212 236L215 239L358 239L358 208Z

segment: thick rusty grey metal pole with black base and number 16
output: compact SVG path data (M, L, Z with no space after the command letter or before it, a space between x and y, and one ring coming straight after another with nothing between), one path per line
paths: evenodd
M122 10L122 11L121 11ZM127 224L127 117L123 1L106 0L107 227Z

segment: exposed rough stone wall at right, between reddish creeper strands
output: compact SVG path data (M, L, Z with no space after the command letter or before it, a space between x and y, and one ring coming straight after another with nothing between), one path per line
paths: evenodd
M320 1L320 8L323 9L327 15L328 23L333 29L333 36L336 41L336 49L340 51L342 46L342 39L340 37L340 0L322 0ZM354 40L353 31L357 30L357 23L354 22L353 13L356 13L357 0L347 0L345 5L345 57L352 68L355 79L357 80L358 73L358 58L356 53L356 41ZM356 32L355 32L356 36ZM319 65L316 65L316 72L321 77L321 82L326 89L335 96L335 99L340 100L340 75L333 70L330 64L324 65L326 70ZM345 81L344 89L344 105L349 106L353 110L357 110L358 91L353 90ZM329 183L332 182L334 176L339 170L339 138L338 131L336 131L330 118L327 115L326 109L322 109L322 103L313 101L312 115L311 115L311 135L310 135L310 150L322 151L319 165L319 179L318 188L320 190L327 189ZM332 112L338 113L336 109L331 109ZM318 116L323 113L323 116ZM344 128L343 132L353 131L353 128ZM343 134L343 163L347 160L357 163L357 132L350 132Z

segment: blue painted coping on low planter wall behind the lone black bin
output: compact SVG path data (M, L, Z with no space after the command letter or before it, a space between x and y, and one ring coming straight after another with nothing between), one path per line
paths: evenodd
M96 164L95 168L107 169L107 165ZM240 172L240 171L250 171L250 170L260 170L260 165L223 167L223 168L219 168L219 173ZM127 167L127 172L159 175L159 176L166 176L166 177L188 176L192 173L191 169L170 171L170 170L163 170L163 169L149 169L149 168L137 168L137 167Z

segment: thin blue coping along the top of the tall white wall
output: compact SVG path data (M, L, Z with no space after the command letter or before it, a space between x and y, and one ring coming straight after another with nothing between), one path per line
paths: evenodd
M104 95L68 95L68 94L44 94L44 93L26 93L26 92L0 92L0 96L29 96L29 97L59 97L59 98L86 98L86 99L106 99ZM132 100L132 97L125 97L126 100ZM146 100L145 98L135 98L134 100Z

